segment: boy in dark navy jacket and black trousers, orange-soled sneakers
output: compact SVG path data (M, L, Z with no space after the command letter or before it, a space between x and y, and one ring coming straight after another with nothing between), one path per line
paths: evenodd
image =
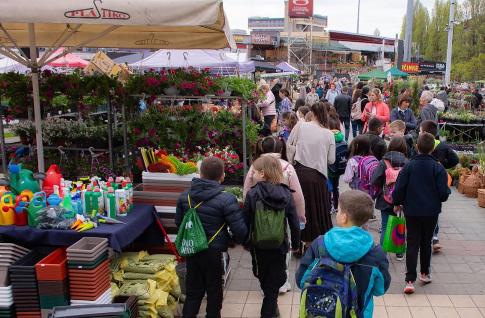
M431 282L431 241L441 213L441 203L448 200L451 190L448 175L431 156L434 136L423 133L416 144L419 154L412 158L399 173L393 191L394 212L404 210L406 217L406 286L405 293L414 292L416 265L420 250L421 275L419 280ZM419 185L412 187L409 185Z

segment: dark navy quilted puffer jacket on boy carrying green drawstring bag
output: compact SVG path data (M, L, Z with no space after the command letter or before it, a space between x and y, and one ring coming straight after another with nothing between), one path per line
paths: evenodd
M243 214L234 195L222 192L224 187L215 181L206 179L193 179L190 188L183 191L177 201L175 225L180 226L183 216L188 210L187 193L190 195L190 204L195 207L203 202L196 210L202 222L207 241L216 234L224 222L231 229L233 237L225 227L209 244L210 250L227 251L229 243L243 244L247 228Z

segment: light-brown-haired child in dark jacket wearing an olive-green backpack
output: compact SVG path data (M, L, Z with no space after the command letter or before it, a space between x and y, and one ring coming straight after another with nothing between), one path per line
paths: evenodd
M253 163L253 181L256 185L246 194L243 216L249 228L243 244L251 251L253 274L264 293L261 317L280 317L278 293L286 281L286 253L289 242L286 224L291 233L291 249L300 245L300 224L292 190L283 180L278 158L259 157Z

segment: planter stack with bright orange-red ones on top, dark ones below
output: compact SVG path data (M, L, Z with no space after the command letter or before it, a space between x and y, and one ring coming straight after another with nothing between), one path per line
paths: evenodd
M46 318L54 307L69 306L66 251L63 248L56 249L35 265L35 271L42 318Z

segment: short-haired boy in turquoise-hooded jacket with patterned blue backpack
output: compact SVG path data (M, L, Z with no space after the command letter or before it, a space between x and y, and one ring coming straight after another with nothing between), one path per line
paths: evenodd
M373 213L374 201L362 191L338 198L338 227L313 241L296 273L300 317L372 317L373 296L391 284L384 251L360 228Z

